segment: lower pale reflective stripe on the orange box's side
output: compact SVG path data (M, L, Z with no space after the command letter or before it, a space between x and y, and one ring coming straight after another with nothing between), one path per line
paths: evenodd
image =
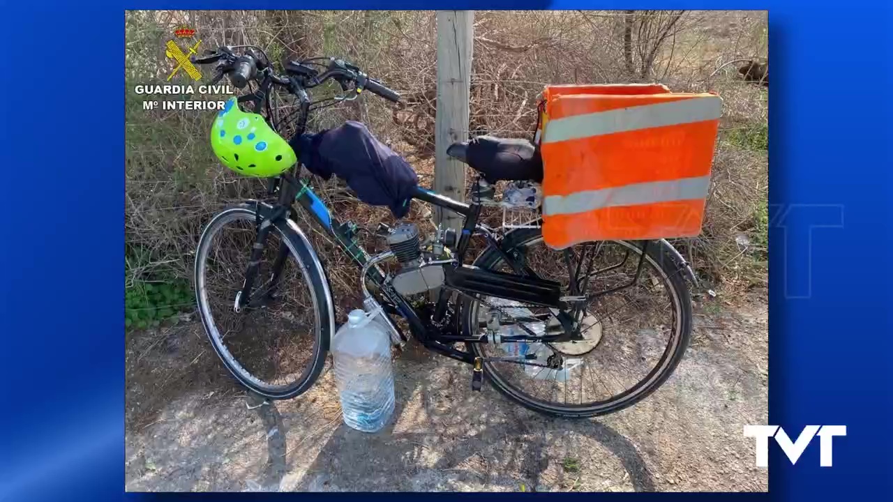
M586 213L618 205L645 205L705 198L708 188L710 188L710 176L700 176L586 190L567 196L549 196L543 200L543 215Z

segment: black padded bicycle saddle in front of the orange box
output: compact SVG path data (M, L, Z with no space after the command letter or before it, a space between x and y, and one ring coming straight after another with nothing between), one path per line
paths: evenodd
M447 155L472 166L490 183L543 180L543 159L527 139L479 136L450 145Z

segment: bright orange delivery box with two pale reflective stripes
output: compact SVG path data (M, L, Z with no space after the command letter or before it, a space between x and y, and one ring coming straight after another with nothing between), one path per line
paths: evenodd
M719 96L659 84L549 86L539 111L549 247L700 233Z

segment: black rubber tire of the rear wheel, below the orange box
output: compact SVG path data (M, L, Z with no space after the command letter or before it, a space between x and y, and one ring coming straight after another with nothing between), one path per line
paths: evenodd
M539 229L512 230L506 234L503 241L503 248L511 250L513 248L527 246L541 238L542 234ZM638 249L640 255L641 247L630 244L628 241L611 242L625 243L624 246L630 247L631 249ZM508 397L513 402L538 412L539 414L563 418L588 418L611 414L637 404L642 399L650 396L655 390L659 389L663 383L670 378L672 372L680 364L682 356L684 356L685 351L689 346L693 314L689 288L684 273L680 271L680 264L677 264L672 258L671 250L667 247L667 244L659 241L654 241L652 244L653 246L650 246L647 250L646 259L649 264L655 266L655 270L659 270L663 274L667 284L671 286L670 290L679 307L680 314L678 316L678 327L673 334L672 349L666 352L663 358L659 361L659 364L657 364L644 379L638 381L637 384L626 392L618 395L620 397L599 402L597 405L593 406L567 404L559 406L532 398L529 394L518 388L516 385L513 385L510 381L506 381L500 372L495 369L495 366L487 361L483 364L485 379L488 380L502 395ZM483 269L490 269L499 264L501 260L502 254L500 254L496 248L490 246L481 252L475 259L474 265ZM476 314L476 312L472 312L474 309L471 307L471 299L463 301L462 329L466 336L472 333L472 326L475 325L476 321L475 319L472 319L472 315ZM468 343L466 345L469 351L475 356L484 356L480 343Z

